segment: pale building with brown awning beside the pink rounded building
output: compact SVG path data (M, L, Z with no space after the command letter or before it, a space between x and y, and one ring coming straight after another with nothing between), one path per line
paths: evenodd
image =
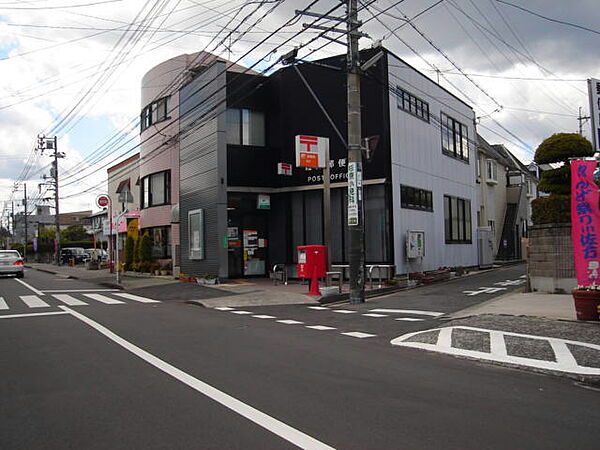
M109 235L112 231L110 240L111 258L114 259L114 249L116 249L116 239L118 237L118 248L122 252L127 236L128 226L133 222L135 229L139 228L140 210L139 210L139 159L137 153L129 158L106 169L108 173L108 196L111 206L109 213L112 213L112 221L107 217L108 226L105 224L105 234Z

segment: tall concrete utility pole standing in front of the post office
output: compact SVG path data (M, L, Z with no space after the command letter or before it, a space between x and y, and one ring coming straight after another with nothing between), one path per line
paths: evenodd
M350 303L365 301L365 248L357 0L348 0L348 238Z

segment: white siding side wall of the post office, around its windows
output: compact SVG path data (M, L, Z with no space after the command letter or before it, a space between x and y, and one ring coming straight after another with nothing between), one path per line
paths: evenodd
M390 92L390 134L394 215L394 259L397 272L437 269L440 266L477 264L477 209L475 187L476 158L473 110L434 82L389 54L390 86L410 92L429 103L430 121L425 122L398 108ZM463 125L469 133L469 163L442 153L440 113ZM433 212L400 207L400 185L433 193ZM444 235L444 195L471 201L471 244L446 244ZM406 260L407 230L425 231L425 257Z

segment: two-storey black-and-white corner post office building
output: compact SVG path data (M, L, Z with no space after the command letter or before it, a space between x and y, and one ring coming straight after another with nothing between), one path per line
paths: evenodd
M473 109L385 49L361 81L367 264L396 273L477 264ZM298 66L346 135L345 56ZM347 150L293 67L269 77L216 60L179 91L181 270L264 276L323 242L321 170L293 167L296 135L329 137L334 264L348 263ZM409 259L409 232L421 256ZM416 236L411 233L411 236ZM423 239L424 237L424 239ZM414 255L413 255L414 256Z

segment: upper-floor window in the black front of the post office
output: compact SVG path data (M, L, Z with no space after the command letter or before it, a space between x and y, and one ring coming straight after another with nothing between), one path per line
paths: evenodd
M249 109L228 109L227 143L230 145L265 146L265 115Z

